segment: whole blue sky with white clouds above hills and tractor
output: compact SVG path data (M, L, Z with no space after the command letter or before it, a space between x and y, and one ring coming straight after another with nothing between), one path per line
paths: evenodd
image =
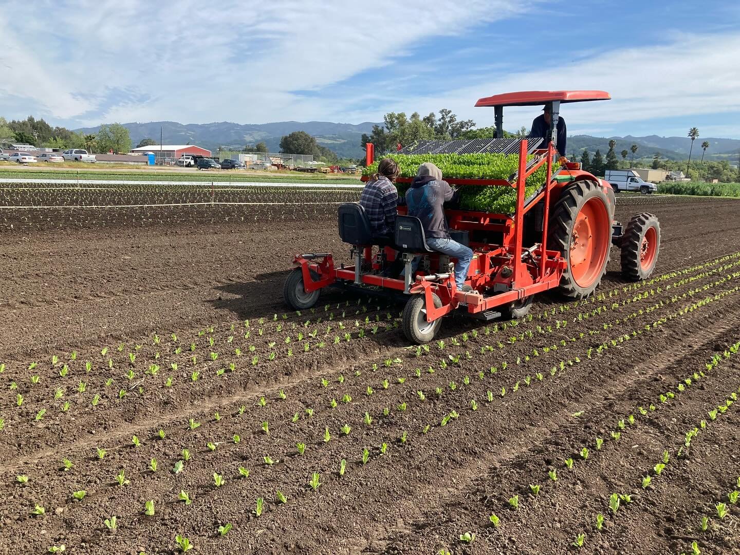
M0 19L0 115L84 127L381 121L477 98L607 90L569 134L740 138L740 7L730 1L35 2ZM0 13L16 2L0 1ZM505 112L505 127L533 110Z

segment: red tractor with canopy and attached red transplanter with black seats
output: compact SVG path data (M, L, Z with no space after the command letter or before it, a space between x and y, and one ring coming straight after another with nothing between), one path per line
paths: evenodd
M286 303L295 310L308 309L326 286L359 289L371 295L400 294L406 299L406 337L413 343L426 343L440 329L442 317L452 312L480 320L518 318L528 313L536 293L548 289L557 289L572 299L588 297L606 272L612 244L621 249L626 279L647 278L660 249L660 226L654 215L634 215L622 229L613 219L615 196L607 181L571 161L562 160L553 172L557 151L552 123L548 140L503 138L505 106L545 105L550 108L550 121L557 122L560 104L609 98L603 91L511 92L481 98L476 106L494 107L496 138L424 141L402 152L519 152L519 170L508 180L445 178L454 186L504 186L517 192L512 214L445 209L455 240L473 249L474 259L465 279L473 292L457 289L454 263L428 248L420 221L404 215L403 207L399 207L394 245L381 246L373 255L377 243L363 209L359 203L345 203L339 207L339 232L342 240L351 244L354 266L334 266L330 253L295 256L295 269L285 283ZM368 164L373 161L372 146L368 144ZM525 198L526 179L543 164L547 166L545 183ZM383 277L381 270L396 252L403 256L403 279ZM411 261L417 257L423 262L412 272Z

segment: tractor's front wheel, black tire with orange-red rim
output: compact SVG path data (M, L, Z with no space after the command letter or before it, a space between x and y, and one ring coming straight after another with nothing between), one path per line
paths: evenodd
M622 235L622 275L628 280L646 280L653 273L660 252L660 223L643 212L633 215Z

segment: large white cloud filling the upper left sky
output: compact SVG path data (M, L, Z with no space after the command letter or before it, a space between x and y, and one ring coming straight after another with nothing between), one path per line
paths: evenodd
M420 41L521 10L514 0L232 0L207 9L196 1L42 2L34 11L45 7L55 17L51 34L38 19L0 22L10 44L0 101L27 98L26 112L88 125L335 116L351 98L334 104L293 91L320 92Z

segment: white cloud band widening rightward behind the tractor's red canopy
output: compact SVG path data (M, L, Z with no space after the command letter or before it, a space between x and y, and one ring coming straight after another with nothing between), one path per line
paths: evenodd
M721 47L719 47L721 45ZM464 118L491 124L493 113L474 108L482 96L515 90L606 90L612 100L562 107L568 132L613 129L622 122L653 118L686 118L740 112L740 32L711 35L673 35L668 44L645 45L591 53L572 64L547 70L510 73L495 82L434 95L409 98L408 106L420 112L445 106ZM489 110L492 112L492 110ZM505 125L514 129L528 125L533 110L511 109ZM737 130L733 132L737 135Z

